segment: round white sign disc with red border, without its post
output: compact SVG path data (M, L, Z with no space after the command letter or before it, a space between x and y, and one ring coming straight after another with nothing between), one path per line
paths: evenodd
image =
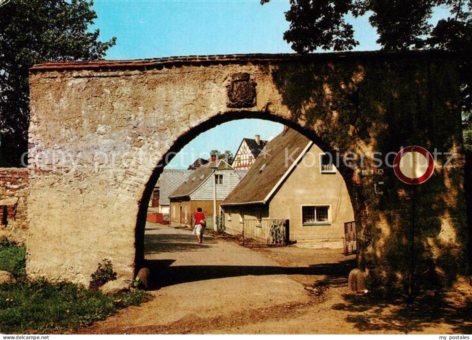
M433 156L421 146L407 146L396 154L393 170L396 177L406 184L424 183L433 174Z

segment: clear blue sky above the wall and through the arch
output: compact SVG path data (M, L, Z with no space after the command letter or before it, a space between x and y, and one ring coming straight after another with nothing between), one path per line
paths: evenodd
M143 59L180 55L293 53L283 40L288 28L288 0L95 0L101 40L117 37L107 59ZM354 25L357 51L378 50L368 17ZM241 139L255 134L267 139L282 125L259 119L222 124L197 136L169 164L186 168L195 154L213 149L236 152Z

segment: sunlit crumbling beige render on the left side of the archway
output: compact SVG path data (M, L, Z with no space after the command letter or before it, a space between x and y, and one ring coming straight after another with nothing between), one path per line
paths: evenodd
M131 279L152 171L177 137L227 110L225 81L241 71L261 84L254 110L279 102L251 65L32 74L28 273L86 283L108 258Z

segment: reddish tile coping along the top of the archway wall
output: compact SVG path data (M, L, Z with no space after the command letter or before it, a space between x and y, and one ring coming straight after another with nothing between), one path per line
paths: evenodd
M270 63L274 61L314 61L314 60L335 60L346 58L379 58L379 57L408 57L417 55L449 55L443 51L364 51L364 52L334 52L334 53L312 53L312 54L225 54L207 56L181 56L156 59L136 59L136 60L92 60L92 61L65 61L65 62L45 62L34 65L31 72L38 71L59 71L59 70L81 70L93 69L108 71L112 69L149 69L168 68L182 65L208 65L224 63Z

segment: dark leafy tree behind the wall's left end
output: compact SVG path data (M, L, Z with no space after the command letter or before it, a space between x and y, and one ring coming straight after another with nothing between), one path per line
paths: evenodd
M46 61L101 59L115 44L89 30L97 18L86 0L11 0L0 7L1 165L27 149L28 69Z

